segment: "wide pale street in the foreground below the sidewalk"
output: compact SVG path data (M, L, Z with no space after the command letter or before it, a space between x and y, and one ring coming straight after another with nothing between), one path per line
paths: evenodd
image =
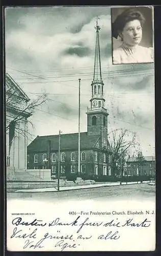
M146 183L122 186L85 188L54 192L7 192L7 200L23 199L38 201L58 200L155 200L155 186Z

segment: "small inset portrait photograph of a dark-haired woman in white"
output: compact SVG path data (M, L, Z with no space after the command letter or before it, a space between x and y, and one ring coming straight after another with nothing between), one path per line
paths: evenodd
M111 8L113 64L154 61L153 7Z

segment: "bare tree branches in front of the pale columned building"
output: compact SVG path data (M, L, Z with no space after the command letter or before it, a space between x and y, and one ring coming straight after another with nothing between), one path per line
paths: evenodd
M8 75L9 76L9 75ZM9 76L9 79L12 79ZM21 123L28 122L33 128L33 123L28 119L33 115L37 106L42 105L47 100L47 94L43 93L36 98L29 99L27 95L17 93L18 84L14 86L10 80L6 81L6 110L11 113L12 120L6 122L6 133L9 134L9 146L11 147L14 137L21 134L25 136L26 133L32 134L22 127ZM19 88L19 90L21 90ZM22 92L22 90L21 90Z

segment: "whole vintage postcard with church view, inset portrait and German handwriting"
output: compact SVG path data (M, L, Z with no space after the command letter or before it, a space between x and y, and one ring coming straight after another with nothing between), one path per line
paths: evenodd
M153 7L4 24L7 250L154 251Z

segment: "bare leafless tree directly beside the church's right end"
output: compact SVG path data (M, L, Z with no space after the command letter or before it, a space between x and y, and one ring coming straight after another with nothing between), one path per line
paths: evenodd
M110 133L109 140L113 153L113 173L114 175L122 176L129 151L132 147L135 147L136 134L128 130L114 130Z

